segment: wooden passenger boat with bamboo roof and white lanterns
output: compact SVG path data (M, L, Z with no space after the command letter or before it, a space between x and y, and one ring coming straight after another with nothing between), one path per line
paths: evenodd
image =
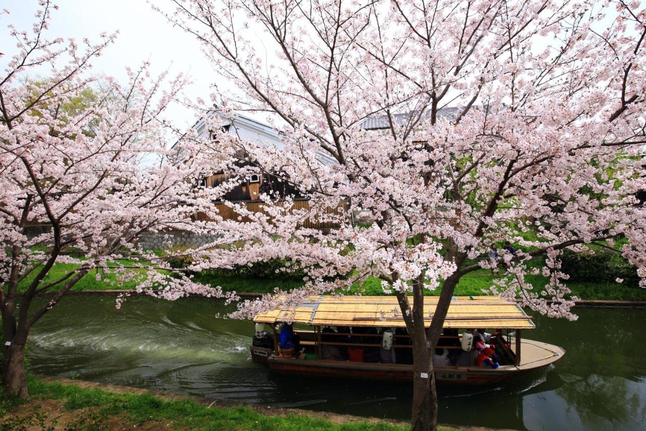
M412 303L413 298L410 297L409 301ZM437 297L424 297L424 309L433 310L436 304ZM405 331L401 329L397 331L397 328L405 328L406 324L401 318L394 296L313 296L295 309L276 309L262 313L254 321L256 324L269 324L273 329L271 348L251 346L252 359L255 362L266 362L272 371L355 379L412 379L413 366L409 363L397 363L396 360L395 363L328 360L323 359L322 355L325 346L379 349L382 334L376 333L375 329L384 327L395 329L393 349L410 349L410 336L402 333ZM278 326L286 321L310 328L297 329L303 350L293 357L280 355ZM427 318L426 326L428 324L430 317ZM329 332L331 327L351 327L353 331L349 334ZM492 296L453 297L444 321L444 335L438 344L443 344L442 348L453 349L454 357L459 359L455 365L433 367L437 382L498 384L545 367L563 357L565 351L558 346L521 338L521 331L535 327L531 317L515 302ZM372 329L368 329L366 333L366 328ZM493 342L496 353L501 357L498 368L477 366L477 353L463 351L459 345L464 333L475 328L495 329Z

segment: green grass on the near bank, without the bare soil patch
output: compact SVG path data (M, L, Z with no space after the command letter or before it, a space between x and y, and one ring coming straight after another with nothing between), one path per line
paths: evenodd
M145 423L167 424L172 421L171 429L185 427L191 430L400 431L410 429L408 426L392 425L385 421L379 423L355 421L338 425L307 414L269 416L260 414L247 406L207 408L191 399L168 399L149 393L138 395L85 389L44 381L31 375L28 377L28 386L30 391L28 401L39 399L63 401L65 410L74 411L79 421L85 423L86 428L83 429L101 429L106 421L115 416L133 427ZM20 401L0 395L0 416L10 412L19 413L20 404ZM11 417L12 415L8 415L5 421L0 423L0 429L17 429L15 423L9 423L15 420ZM90 423L89 428L87 428L88 423ZM440 429L449 431L453 428L441 427Z

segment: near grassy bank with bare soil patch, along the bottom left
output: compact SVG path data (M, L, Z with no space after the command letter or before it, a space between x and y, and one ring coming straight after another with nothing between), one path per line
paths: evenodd
M112 430L344 430L401 431L410 429L379 419L325 415L305 410L274 409L271 414L251 406L222 407L178 396L159 396L143 390L113 392L75 384L28 379L30 399L0 398L0 429ZM96 386L96 385L95 385ZM270 409L266 409L270 411ZM443 431L454 428L441 427Z

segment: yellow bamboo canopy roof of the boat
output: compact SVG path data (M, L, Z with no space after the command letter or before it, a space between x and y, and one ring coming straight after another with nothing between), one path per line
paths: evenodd
M426 326L429 311L434 311L437 296L424 296ZM408 301L413 304L413 297ZM294 308L260 313L256 323L291 321L309 326L406 327L395 296L309 296ZM444 321L446 328L488 327L497 329L534 329L531 317L515 302L496 296L453 296Z

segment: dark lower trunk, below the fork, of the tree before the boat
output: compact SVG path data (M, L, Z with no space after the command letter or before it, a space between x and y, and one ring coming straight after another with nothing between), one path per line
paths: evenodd
M413 346L412 431L437 428L437 393L432 355L428 346Z

